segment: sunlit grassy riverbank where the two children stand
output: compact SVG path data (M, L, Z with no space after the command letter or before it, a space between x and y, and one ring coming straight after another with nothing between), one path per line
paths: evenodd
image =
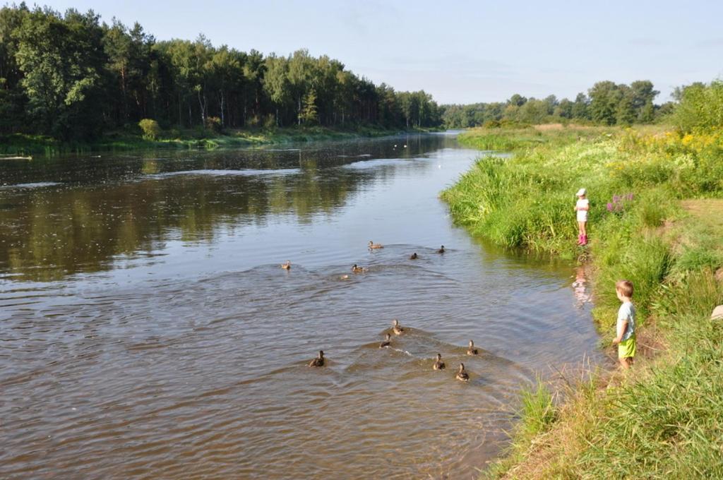
M723 476L723 133L644 129L476 129L463 145L504 146L442 194L455 220L505 247L590 262L594 320L615 334L616 279L636 286L630 372L591 372L523 394L505 478ZM576 247L575 192L591 199L589 247ZM565 400L558 401L564 397Z

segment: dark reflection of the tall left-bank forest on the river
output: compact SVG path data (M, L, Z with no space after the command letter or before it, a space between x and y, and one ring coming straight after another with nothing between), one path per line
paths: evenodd
M411 159L449 141L435 135L304 149L9 160L0 190L0 273L58 280L108 269L121 254L153 254L171 239L212 241L219 228L264 225L269 215L308 224L392 175L395 163L427 168ZM389 163L344 168L369 158Z

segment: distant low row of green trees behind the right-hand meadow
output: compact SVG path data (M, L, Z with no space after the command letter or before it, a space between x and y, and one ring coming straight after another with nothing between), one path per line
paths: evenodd
M555 95L544 99L512 95L506 102L474 103L442 106L445 127L466 128L501 123L544 124L555 121L578 121L602 125L647 124L671 113L673 103L656 105L658 95L649 80L630 85L597 82L587 94L578 93L575 100Z

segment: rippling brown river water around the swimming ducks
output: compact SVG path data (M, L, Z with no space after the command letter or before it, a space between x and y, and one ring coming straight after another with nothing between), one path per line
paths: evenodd
M0 477L476 478L523 385L601 361L572 267L453 226L438 194L479 155L0 160Z

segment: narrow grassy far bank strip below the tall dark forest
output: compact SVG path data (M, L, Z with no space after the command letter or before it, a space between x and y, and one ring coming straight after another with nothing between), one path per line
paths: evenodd
M323 140L353 140L385 137L401 133L424 133L429 129L409 132L382 129L374 126L354 129L327 127L288 127L278 129L236 129L216 133L208 129L171 130L162 132L158 140L147 140L140 133L111 132L93 142L61 142L52 137L13 134L0 137L2 155L56 155L59 153L90 153L154 148L248 147L252 145L316 142Z

